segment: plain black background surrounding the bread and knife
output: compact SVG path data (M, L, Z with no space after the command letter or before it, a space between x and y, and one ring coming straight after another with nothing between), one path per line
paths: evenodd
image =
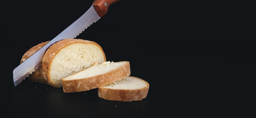
M32 46L53 39L93 0L1 2L1 115L47 117L255 116L255 2L122 0L77 38L100 44L108 61L130 61L150 84L142 101L107 101L97 89L64 93L12 71ZM158 118L157 117L157 118Z

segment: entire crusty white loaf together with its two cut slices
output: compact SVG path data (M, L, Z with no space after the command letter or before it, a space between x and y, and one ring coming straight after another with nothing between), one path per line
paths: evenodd
M48 42L30 48L20 63ZM98 88L98 96L110 101L140 101L148 95L149 83L130 76L129 61L106 61L101 46L89 40L56 42L47 49L40 65L28 79L63 87L65 93Z

